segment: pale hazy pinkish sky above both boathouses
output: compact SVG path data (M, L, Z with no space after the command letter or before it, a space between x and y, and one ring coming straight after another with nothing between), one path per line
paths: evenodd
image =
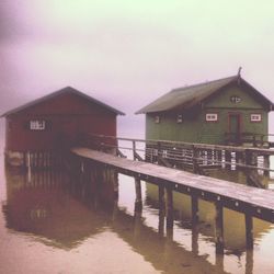
M1 0L0 112L71 85L129 121L240 66L274 101L273 11L272 0Z

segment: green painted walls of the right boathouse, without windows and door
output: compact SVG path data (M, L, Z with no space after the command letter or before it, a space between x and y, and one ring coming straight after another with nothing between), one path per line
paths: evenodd
M241 102L232 103L230 98L237 95ZM206 113L218 113L218 122L206 122ZM241 115L241 132L267 134L269 114L262 104L238 87L222 90L204 104L187 112L150 113L146 116L146 138L162 140L182 140L187 142L225 144L225 133L229 132L229 114ZM250 121L252 113L261 114L262 122ZM183 114L183 123L176 123L176 115ZM155 123L155 116L160 123Z

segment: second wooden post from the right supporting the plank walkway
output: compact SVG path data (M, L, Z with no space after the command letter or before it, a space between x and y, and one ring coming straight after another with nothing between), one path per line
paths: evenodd
M220 202L215 203L215 241L216 253L224 254L224 208Z

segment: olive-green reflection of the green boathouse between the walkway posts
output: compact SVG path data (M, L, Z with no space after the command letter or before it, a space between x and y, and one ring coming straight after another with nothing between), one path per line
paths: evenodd
M157 199L157 187L155 187L153 184L148 183L147 194L149 195L147 203L149 203L150 206L156 207L157 204L155 204L155 201ZM192 193L190 192L190 194ZM192 217L191 209L193 207L195 208L196 205L195 203L193 204L192 201L193 198L191 198L190 196L186 196L185 194L174 193L174 209L180 213L179 218L183 221L182 224L193 224L193 225L195 224L195 215L194 217ZM218 202L221 202L221 197L219 197ZM198 215L199 221L197 224L198 232L201 232L204 236L210 237L210 239L217 238L215 235L216 208L214 207L214 204L206 202L202 198L198 199L198 214L199 214ZM253 229L252 226L248 225L248 222L244 221L244 218L247 218L244 217L244 214L237 213L228 208L224 208L222 217L224 217L222 219L224 227L219 225L219 228L222 227L222 229L218 230L220 231L219 235L220 236L222 235L221 237L222 242L220 243L224 244L224 248L230 251L238 250L240 252L243 252L246 248L248 249L252 248L252 241L251 240L246 241L246 238L253 239L253 236L258 238L260 237L262 231L267 230L270 227L269 222L264 222L255 218L254 229ZM253 218L251 221L253 221ZM233 224L238 224L238 225L233 225ZM187 228L190 227L187 226ZM192 226L192 228L195 229L194 226ZM254 233L253 236L252 236L252 232ZM251 244L249 244L249 242Z

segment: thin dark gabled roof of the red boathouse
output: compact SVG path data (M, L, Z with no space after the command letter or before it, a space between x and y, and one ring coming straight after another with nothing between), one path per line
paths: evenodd
M87 94L80 92L79 90L76 90L76 89L73 89L73 88L71 88L71 87L66 87L66 88L64 88L64 89L61 89L61 90L57 90L57 91L55 91L55 92L53 92L53 93L49 93L49 94L47 94L47 95L45 95L45 96L42 96L42 98L36 99L36 100L34 100L34 101L31 101L31 102L28 102L28 103L26 103L26 104L23 104L23 105L21 105L21 106L19 106L19 107L15 107L15 109L13 109L13 110L10 110L10 111L3 113L3 114L1 115L1 117L5 117L5 116L9 116L9 115L11 115L11 114L19 113L19 112L21 112L21 111L24 111L24 110L31 107L31 106L34 106L34 105L39 104L39 103L43 103L43 102L45 102L45 101L47 101L47 100L50 100L50 99L53 99L53 98L56 98L56 96L59 96L59 95L62 95L62 94L66 94L66 93L76 94L76 95L78 95L78 96L81 96L81 98L85 99L88 102L91 102L91 103L95 103L95 104L98 104L98 105L101 105L101 106L105 107L106 110L109 110L109 111L111 111L111 112L113 112L113 113L116 113L116 114L119 114L119 115L125 115L125 113L123 113L123 112L121 112L121 111L118 111L118 110L116 110L116 109L114 109L114 107L112 107L112 106L110 106L110 105L106 105L106 104L102 103L101 101L98 101L96 99L94 99L94 98L92 98L92 96L89 96L89 95L87 95Z

